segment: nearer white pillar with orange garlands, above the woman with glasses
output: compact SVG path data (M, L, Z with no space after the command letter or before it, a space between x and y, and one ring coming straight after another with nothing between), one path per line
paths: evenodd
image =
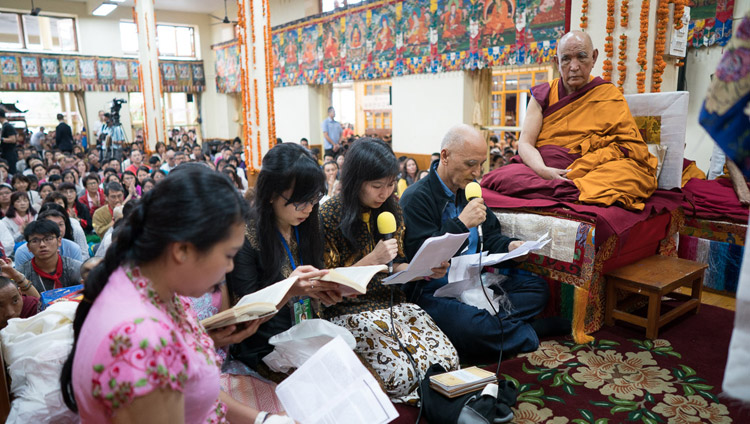
M248 179L260 170L263 155L276 144L273 114L271 21L268 0L238 0L240 125Z

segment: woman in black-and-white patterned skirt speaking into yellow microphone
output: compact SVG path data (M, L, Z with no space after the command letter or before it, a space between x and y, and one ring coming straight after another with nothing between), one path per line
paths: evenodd
M385 143L364 138L352 145L342 170L343 190L320 212L327 268L384 265L390 261L394 272L407 267L404 221L393 195L397 175L398 161ZM392 213L397 223L393 238L388 240L378 233L376 224L384 212ZM432 270L432 278L445 275L448 264L442 265ZM446 370L456 369L458 354L426 312L406 303L399 288L381 283L385 276L376 275L366 294L325 308L323 317L354 334L355 350L377 372L391 400L406 402L418 398L412 361L424 375L436 363Z

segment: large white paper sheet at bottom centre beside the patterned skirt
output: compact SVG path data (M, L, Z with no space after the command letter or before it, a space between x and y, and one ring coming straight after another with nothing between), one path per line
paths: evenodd
M385 424L398 412L340 337L276 386L286 413L301 424Z

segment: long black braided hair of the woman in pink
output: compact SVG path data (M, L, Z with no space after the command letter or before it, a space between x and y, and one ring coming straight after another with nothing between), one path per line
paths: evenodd
M187 242L206 252L229 236L232 224L244 223L247 212L247 204L229 179L202 166L175 168L137 202L121 220L125 222L112 237L104 260L89 273L76 310L73 349L60 376L63 400L70 410L78 411L72 373L81 328L110 275L123 264L155 260L175 242Z

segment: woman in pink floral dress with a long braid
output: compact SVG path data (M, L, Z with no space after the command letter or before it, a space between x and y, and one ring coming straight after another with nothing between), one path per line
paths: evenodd
M202 296L232 270L246 215L226 177L188 165L125 218L86 282L61 377L65 403L81 422L265 418L220 392L214 341L182 298ZM241 339L252 331L230 332ZM217 344L232 339L227 333Z

